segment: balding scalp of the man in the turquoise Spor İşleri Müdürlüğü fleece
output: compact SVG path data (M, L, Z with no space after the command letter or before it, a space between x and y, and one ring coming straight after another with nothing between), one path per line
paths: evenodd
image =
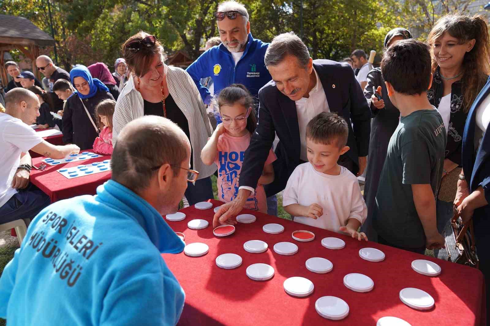
M189 139L175 123L161 116L143 116L118 135L111 158L112 179L139 192L165 163L178 174L178 166L190 153Z

